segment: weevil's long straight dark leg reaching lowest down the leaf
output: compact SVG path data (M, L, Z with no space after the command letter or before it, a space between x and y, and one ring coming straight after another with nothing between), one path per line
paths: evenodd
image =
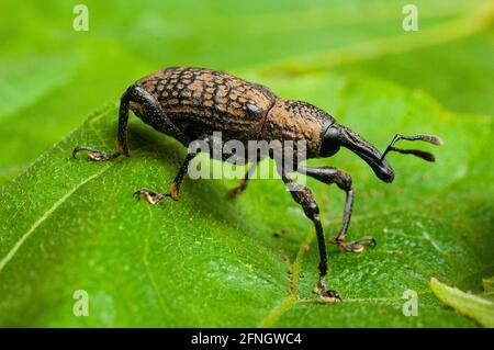
M317 244L319 248L319 281L317 283L315 292L319 294L319 296L325 301L339 302L341 301L341 298L339 297L338 292L326 289L326 274L328 270L326 242L324 239L324 229L319 217L319 207L314 199L314 194L308 188L294 182L293 179L291 179L284 171L281 172L281 178L283 179L285 187L290 190L293 200L302 206L305 216L307 216L314 223L317 235Z

